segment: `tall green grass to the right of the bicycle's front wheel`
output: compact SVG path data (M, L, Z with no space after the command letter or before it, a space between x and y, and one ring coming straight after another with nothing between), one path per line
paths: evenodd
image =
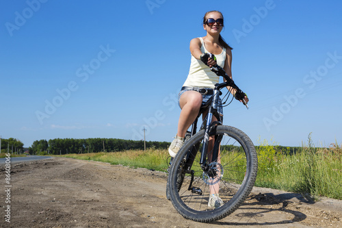
M337 143L315 148L309 139L308 145L291 155L263 142L257 152L256 186L342 199L342 149Z

